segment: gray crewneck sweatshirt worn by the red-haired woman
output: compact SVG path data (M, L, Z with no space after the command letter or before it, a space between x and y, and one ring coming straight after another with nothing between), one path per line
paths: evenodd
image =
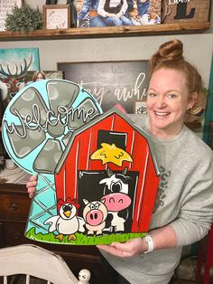
M128 116L149 132L146 115ZM132 284L168 283L181 260L182 246L202 239L213 221L213 151L185 126L177 137L150 139L161 172L150 230L170 224L178 246L144 258L121 259L101 251Z

